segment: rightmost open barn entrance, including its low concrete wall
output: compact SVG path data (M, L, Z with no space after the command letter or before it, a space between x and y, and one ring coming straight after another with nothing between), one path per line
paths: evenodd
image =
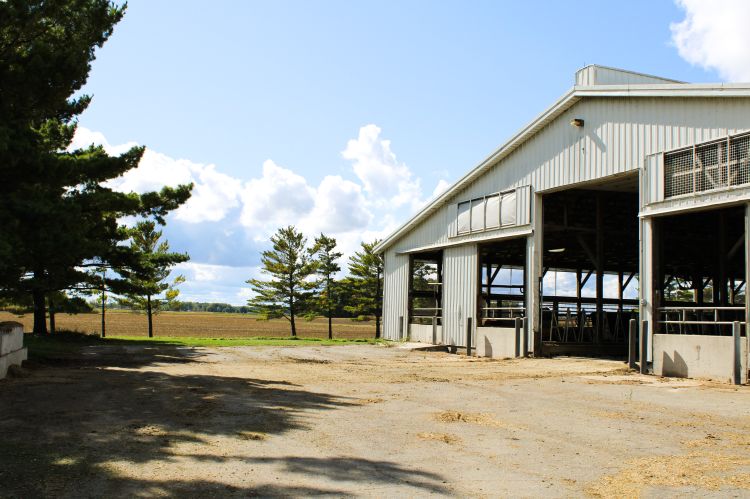
M745 213L742 205L653 219L656 374L747 379Z

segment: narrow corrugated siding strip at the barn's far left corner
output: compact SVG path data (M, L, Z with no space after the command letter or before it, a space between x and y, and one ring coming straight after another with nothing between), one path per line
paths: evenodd
M383 337L398 340L400 318L404 318L404 335L409 301L409 257L396 254L392 249L385 253L383 284Z

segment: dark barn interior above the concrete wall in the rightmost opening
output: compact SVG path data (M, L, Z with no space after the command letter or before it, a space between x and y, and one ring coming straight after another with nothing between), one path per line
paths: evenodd
M744 334L745 207L655 219L656 333Z

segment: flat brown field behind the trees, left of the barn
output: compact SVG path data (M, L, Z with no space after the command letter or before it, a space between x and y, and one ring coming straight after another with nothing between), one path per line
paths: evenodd
M57 329L100 333L99 314L57 314ZM17 316L0 312L1 321L23 323L31 331L31 314ZM148 322L145 314L111 311L107 313L107 336L147 336ZM223 314L210 312L161 312L154 316L154 336L182 336L192 338L242 338L253 336L285 337L290 335L286 319L258 320L252 315ZM328 321L297 320L297 335L301 338L325 338L328 336ZM375 322L355 322L351 319L333 320L334 338L362 339L375 337Z

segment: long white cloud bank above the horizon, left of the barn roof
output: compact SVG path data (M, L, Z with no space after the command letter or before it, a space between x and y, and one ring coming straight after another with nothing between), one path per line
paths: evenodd
M321 232L337 239L340 262L360 242L382 238L429 200L422 181L396 159L390 140L376 125L359 129L341 157L351 163L351 178L325 176L317 185L272 159L249 179L221 172L213 164L176 159L147 148L138 166L109 185L123 192L146 192L192 182L190 200L167 219L165 237L172 249L187 251L191 261L175 269L186 276L185 300L244 304L245 280L259 272L260 252L279 228L295 225L309 239ZM111 145L106 136L79 126L71 149L101 145L121 154L135 142ZM335 153L332 154L332 156ZM442 193L445 178L431 179L429 197Z

